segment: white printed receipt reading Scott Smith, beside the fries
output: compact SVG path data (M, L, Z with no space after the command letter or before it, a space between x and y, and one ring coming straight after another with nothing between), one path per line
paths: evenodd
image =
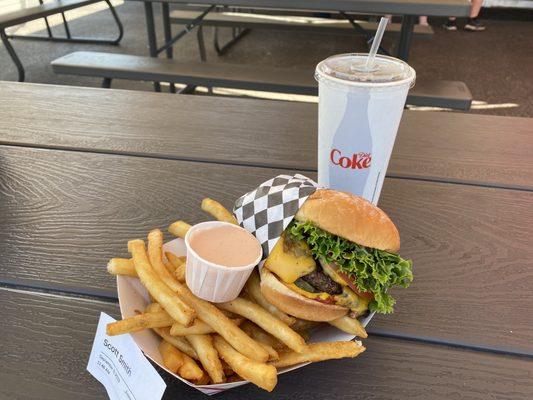
M100 381L111 400L161 399L165 382L130 335L107 336L115 319L100 314L87 371Z

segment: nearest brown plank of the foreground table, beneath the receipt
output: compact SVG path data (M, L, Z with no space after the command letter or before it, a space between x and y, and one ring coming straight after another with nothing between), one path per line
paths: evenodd
M103 387L85 371L100 311L119 314L116 304L0 289L0 397L104 398ZM348 393L372 399L533 396L531 359L379 337L370 337L365 345L367 351L356 359L318 363L280 376L272 394L246 385L217 398L313 400ZM172 382L164 399L178 398L205 396Z

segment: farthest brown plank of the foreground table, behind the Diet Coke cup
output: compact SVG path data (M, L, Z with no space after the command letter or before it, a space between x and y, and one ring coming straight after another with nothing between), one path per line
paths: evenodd
M316 170L316 104L0 83L0 120L1 144ZM528 118L406 111L388 176L533 190L532 135Z

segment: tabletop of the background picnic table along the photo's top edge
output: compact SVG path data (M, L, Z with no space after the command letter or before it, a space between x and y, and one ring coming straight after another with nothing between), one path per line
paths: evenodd
M189 4L188 0L148 1L154 3ZM198 0L194 4L211 5L212 3L209 0ZM369 14L410 14L443 17L450 15L466 17L470 11L470 4L465 0L219 0L217 4L245 8L345 11Z

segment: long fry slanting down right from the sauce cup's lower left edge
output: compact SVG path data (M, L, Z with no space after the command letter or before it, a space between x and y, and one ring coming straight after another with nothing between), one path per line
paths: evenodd
M224 315L213 304L202 300L191 293L189 288L181 283L177 290L178 295L192 307L198 317L211 326L218 334L226 339L232 346L239 349L245 356L257 360L268 360L268 353L251 337L246 335L233 321Z

